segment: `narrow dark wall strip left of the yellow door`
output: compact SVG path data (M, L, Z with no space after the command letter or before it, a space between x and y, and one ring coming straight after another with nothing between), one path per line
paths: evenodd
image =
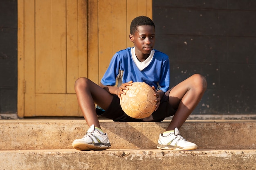
M0 113L17 113L17 0L0 0Z

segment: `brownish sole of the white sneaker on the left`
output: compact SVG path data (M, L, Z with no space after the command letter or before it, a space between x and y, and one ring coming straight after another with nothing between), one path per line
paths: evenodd
M101 144L98 143L97 145L94 144L87 144L87 143L79 143L79 144L72 144L73 148L75 148L76 150L106 150L111 148L110 144Z

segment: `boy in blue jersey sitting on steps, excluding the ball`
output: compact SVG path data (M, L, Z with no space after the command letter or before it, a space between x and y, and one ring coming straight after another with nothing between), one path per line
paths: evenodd
M200 102L207 88L206 79L195 74L169 89L169 59L166 54L153 49L155 24L150 18L139 16L132 20L129 38L134 47L115 53L99 85L85 77L76 80L78 103L90 128L83 138L74 140L72 146L77 150L105 150L111 147L108 135L101 130L98 116L114 121L162 121L173 116L166 131L159 135L157 148L196 149L197 145L186 141L178 129ZM145 82L155 90L157 104L150 117L134 119L122 110L119 99L132 82ZM97 112L94 103L104 111Z

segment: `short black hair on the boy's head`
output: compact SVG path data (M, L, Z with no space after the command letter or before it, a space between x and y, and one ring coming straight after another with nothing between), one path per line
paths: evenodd
M152 25L155 29L155 24L150 18L146 16L139 16L132 20L130 25L130 34L133 35L137 31L137 27L141 25Z

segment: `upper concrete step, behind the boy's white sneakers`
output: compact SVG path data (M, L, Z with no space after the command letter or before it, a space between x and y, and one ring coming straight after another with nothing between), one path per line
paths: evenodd
M154 149L169 121L113 122L101 120L112 149ZM85 135L84 120L0 120L0 150L72 149ZM198 149L256 149L256 121L186 121L181 135Z

